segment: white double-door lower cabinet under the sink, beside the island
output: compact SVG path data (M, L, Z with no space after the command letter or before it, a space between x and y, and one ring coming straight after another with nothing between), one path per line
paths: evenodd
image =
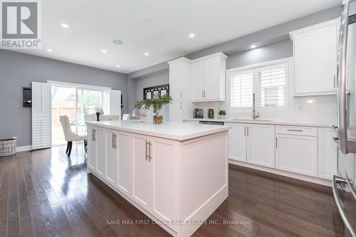
M274 125L226 125L231 125L229 159L274 168Z

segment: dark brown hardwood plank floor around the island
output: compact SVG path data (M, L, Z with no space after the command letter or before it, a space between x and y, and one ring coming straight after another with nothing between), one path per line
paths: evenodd
M0 157L0 236L169 236L157 225L115 224L146 219L86 174L82 145L71 159L66 147ZM331 189L248 169L229 169L229 198L209 221L194 236L344 233Z

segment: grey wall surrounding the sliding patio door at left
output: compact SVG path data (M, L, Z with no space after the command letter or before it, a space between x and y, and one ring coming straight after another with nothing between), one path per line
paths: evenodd
M83 65L0 50L0 138L17 137L31 144L31 108L22 106L22 88L31 82L58 80L121 90L127 111L127 75Z

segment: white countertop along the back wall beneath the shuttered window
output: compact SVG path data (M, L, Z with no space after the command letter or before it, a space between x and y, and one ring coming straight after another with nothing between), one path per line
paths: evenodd
M333 123L327 122L288 122L288 121L276 121L276 120L238 120L238 119L184 119L184 121L211 121L211 122L236 122L236 123L257 123L263 125L293 125L293 126L309 126L309 127L331 127Z

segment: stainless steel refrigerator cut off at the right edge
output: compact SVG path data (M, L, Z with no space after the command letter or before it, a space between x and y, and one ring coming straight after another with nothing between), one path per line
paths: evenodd
M339 147L337 174L333 177L333 194L337 209L345 223L345 236L356 237L356 121L355 86L347 91L347 83L355 85L356 2L343 1L337 52L337 126Z

